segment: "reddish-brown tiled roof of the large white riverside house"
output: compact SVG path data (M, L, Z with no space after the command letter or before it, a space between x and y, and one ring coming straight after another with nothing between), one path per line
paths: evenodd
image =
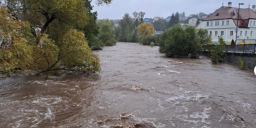
M252 9L241 9L236 7L220 7L214 13L209 15L203 21L221 20L221 19L233 19L235 25L237 25L237 19L239 19L238 27L247 27L249 19L256 19L256 13Z

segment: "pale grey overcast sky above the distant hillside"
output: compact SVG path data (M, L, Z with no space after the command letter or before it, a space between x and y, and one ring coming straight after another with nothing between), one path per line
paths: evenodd
M245 3L241 8L248 8L249 4L256 5L255 0L229 0L232 7L238 7L238 3ZM125 13L132 15L134 11L143 11L145 17L168 17L178 11L185 12L186 16L200 12L213 13L222 6L227 6L226 0L113 0L110 5L97 6L95 0L93 11L97 11L98 19L122 19ZM251 8L250 6L250 8Z

